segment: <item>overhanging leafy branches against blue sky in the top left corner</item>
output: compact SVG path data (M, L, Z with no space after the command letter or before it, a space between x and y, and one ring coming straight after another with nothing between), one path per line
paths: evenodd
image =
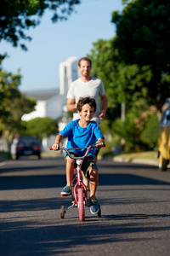
M1 0L0 8L0 42L6 40L26 50L22 40L31 40L25 30L40 23L46 9L53 11L52 21L66 20L74 11L80 0Z

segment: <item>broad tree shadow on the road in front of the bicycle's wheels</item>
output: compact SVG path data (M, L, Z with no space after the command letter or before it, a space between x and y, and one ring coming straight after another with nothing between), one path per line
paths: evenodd
M161 218L162 216L139 216L139 218ZM111 217L110 217L111 218ZM119 217L117 217L119 218ZM117 219L115 218L115 220ZM120 218L137 218L136 215L124 215ZM170 230L170 226L133 221L133 223L109 224L109 218L91 218L92 221L72 223L73 218L56 220L54 225L38 222L13 221L2 224L1 236L2 255L88 255L88 245L98 247L114 246L116 242L151 241L155 240L153 232ZM98 224L97 224L98 223ZM5 232L4 232L5 231ZM138 234L138 235L137 235ZM150 236L152 234L152 236ZM8 239L9 238L9 239ZM21 239L22 238L22 239ZM24 238L24 239L23 239ZM8 239L8 247L7 245ZM82 247L83 250L82 250ZM101 247L102 248L102 247ZM91 255L97 255L91 252ZM103 253L98 254L103 255ZM111 254L109 254L111 255ZM126 254L123 254L126 255Z

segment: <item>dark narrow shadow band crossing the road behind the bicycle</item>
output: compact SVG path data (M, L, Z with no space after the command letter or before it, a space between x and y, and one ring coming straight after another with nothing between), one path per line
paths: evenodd
M133 174L99 174L99 186L108 185L169 185L148 177ZM3 176L0 177L0 190L8 189L48 189L65 185L63 175Z

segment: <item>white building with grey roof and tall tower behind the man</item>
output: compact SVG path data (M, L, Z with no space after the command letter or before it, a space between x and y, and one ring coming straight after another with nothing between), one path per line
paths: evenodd
M26 96L34 97L37 100L35 111L22 116L23 120L35 119L37 117L50 117L59 120L59 131L67 123L65 119L66 95L69 84L79 76L77 57L70 57L59 64L59 89L30 90L24 92ZM53 138L54 141L54 138ZM44 150L48 150L50 138L42 142Z

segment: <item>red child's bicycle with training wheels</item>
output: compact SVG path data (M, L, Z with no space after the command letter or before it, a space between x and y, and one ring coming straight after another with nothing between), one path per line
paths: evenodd
M85 207L90 207L89 201L88 201L88 189L84 183L82 183L82 171L81 171L81 166L82 166L82 161L84 158L88 155L89 151L91 148L95 148L96 143L94 145L90 145L87 148L87 151L84 155L82 156L72 156L69 152L69 148L65 147L59 147L59 149L65 150L65 152L68 154L68 156L76 160L77 166L75 168L75 172L77 171L76 177L73 177L72 180L72 205L71 207L65 208L65 206L61 206L61 212L60 212L60 218L65 218L65 213L72 207L78 207L79 210L79 219L80 221L85 220ZM52 147L49 148L50 150L53 150ZM71 149L83 149L83 148L70 148ZM74 184L74 180L77 180L77 183ZM65 196L65 195L64 195ZM101 217L101 208L99 206L99 212L98 212L98 217Z

